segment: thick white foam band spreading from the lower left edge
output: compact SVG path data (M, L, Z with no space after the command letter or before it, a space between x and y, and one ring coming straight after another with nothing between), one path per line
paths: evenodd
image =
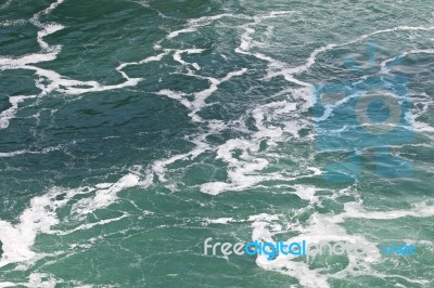
M72 214L78 220L97 209L103 209L117 200L117 194L127 188L138 185L150 185L150 178L140 181L135 174L127 174L113 184L103 183L98 187L80 187L76 189L52 188L47 194L31 198L28 208L20 215L17 224L0 220L0 240L3 244L3 254L0 259L0 267L10 263L22 263L18 267L26 269L43 254L31 250L38 234L66 235L75 231L91 228L113 221L119 221L128 217L127 213L119 218L102 220L95 223L85 223L71 231L52 231L51 227L60 223L56 210L65 207L76 195L91 197L82 198L72 206ZM63 197L60 197L63 196ZM18 269L17 267L17 269Z

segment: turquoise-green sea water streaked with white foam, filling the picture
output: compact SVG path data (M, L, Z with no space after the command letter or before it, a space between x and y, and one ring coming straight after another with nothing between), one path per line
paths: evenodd
M0 1L0 287L434 287L433 8ZM380 74L408 79L414 139L388 149L412 175L367 148L358 181L324 181L347 153L318 150L312 87ZM225 258L208 237L378 252Z

